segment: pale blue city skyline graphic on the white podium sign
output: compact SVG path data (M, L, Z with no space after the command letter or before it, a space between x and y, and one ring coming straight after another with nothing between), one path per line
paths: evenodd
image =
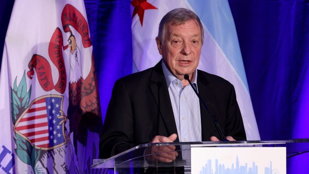
M255 161L251 166L248 163L240 165L238 156L236 156L236 163L232 163L230 167L225 164L220 164L219 160L215 159L215 169L211 166L212 160L207 160L204 166L201 168L199 174L280 174L277 169L273 169L272 161L268 163L268 166L258 166Z

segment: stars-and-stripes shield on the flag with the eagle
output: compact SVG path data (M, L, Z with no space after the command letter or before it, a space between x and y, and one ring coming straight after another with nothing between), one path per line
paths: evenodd
M37 149L49 150L66 143L63 96L36 98L16 121L14 131Z

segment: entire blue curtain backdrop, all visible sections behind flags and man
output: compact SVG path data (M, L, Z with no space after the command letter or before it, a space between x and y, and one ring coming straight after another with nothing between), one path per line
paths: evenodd
M229 4L261 139L309 138L309 1ZM0 1L0 53L12 5ZM132 72L131 4L85 0L85 5L104 117L114 82ZM309 154L288 159L288 173L309 173L308 162Z

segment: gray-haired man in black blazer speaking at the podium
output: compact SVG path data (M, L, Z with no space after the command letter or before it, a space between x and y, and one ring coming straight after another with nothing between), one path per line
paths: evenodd
M203 39L203 26L193 11L177 8L163 16L155 38L161 61L115 83L100 140L101 158L145 143L218 141L213 120L193 88L226 139L246 139L233 85L196 69ZM176 156L156 158L172 162Z

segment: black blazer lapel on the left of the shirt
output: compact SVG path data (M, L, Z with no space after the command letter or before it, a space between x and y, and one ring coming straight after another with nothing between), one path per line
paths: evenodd
M159 108L164 127L167 130L168 136L170 136L174 133L177 134L177 128L161 61L159 61L153 68L153 73L150 79L150 89L153 93L157 107ZM176 142L179 142L178 137Z

